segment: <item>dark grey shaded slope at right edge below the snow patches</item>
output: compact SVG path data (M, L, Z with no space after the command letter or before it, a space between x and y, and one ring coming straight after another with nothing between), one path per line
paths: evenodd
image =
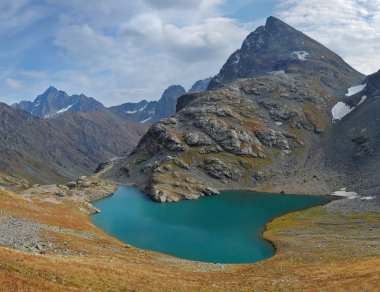
M380 70L366 78L365 88L351 100L366 99L334 123L328 136L327 166L343 173L345 187L380 193Z

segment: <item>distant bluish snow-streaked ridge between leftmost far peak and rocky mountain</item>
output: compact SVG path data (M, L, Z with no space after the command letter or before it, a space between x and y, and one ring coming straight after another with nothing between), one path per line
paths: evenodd
M109 110L123 119L152 124L172 116L176 110L177 98L185 93L182 86L172 85L164 91L159 101L124 103L110 107Z

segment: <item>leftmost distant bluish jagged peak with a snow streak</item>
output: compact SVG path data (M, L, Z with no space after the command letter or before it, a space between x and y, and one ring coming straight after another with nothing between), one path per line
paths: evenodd
M12 105L13 108L22 109L35 117L50 118L64 112L91 112L105 110L105 107L84 94L69 96L66 92L49 87L43 94L33 101L22 101Z

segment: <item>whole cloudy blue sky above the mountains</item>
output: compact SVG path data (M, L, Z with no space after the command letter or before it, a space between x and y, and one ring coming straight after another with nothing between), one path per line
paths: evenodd
M217 74L270 15L380 69L380 0L0 0L0 101L51 85L107 106L156 100Z

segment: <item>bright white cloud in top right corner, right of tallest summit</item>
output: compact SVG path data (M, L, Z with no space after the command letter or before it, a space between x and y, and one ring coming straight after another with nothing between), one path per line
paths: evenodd
M280 0L277 15L355 69L370 74L380 68L380 0Z

